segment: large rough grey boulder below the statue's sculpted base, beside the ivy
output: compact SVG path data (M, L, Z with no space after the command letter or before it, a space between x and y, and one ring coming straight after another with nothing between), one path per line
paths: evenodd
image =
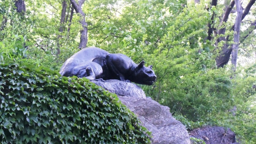
M149 98L118 96L140 119L142 125L152 132L152 144L189 144L189 135L184 125L174 119L167 106Z

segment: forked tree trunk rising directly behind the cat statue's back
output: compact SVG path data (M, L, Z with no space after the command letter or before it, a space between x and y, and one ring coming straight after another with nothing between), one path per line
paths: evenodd
M77 14L81 15L81 19L80 19L80 23L82 24L82 30L80 31L80 43L79 43L79 49L83 49L86 48L87 45L87 22L85 21L85 14L81 9L82 4L84 3L85 0L80 0L78 3L79 5L76 3L75 0L70 0L73 8L75 9Z

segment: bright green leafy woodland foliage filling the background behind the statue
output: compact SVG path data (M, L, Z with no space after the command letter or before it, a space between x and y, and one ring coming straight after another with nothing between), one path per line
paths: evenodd
M25 18L13 10L14 2L1 1L0 61L11 59L59 71L62 63L79 51L79 14L71 16L67 1L66 23L60 24L63 1L27 0ZM243 2L246 8L249 0ZM256 141L255 4L241 23L236 71L229 63L217 68L222 47L233 44L236 13L221 22L230 0L195 4L185 0L85 1L87 46L123 53L135 62L153 65L157 82L142 86L147 96L169 106L188 130L204 125L231 128L240 143ZM8 10L8 11L7 11ZM235 9L232 9L235 10ZM214 19L211 19L214 15ZM214 29L207 38L209 24ZM60 32L62 26L64 31ZM248 29L246 29L248 27ZM226 28L224 34L217 31ZM229 36L230 41L218 41ZM217 43L218 41L218 43ZM60 53L57 54L59 48ZM11 54L10 54L11 53Z

